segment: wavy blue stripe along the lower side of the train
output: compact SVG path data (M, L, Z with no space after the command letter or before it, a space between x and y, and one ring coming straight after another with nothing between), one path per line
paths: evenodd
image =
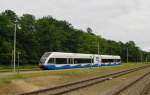
M62 65L57 66L53 64L42 65L42 68L45 70L59 70L59 69L71 69L71 68L88 68L88 67L99 67L99 66L115 66L120 64L76 64L76 65Z

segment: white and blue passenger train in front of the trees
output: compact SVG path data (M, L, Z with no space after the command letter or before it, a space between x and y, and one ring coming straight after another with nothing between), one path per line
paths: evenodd
M117 55L65 52L45 52L39 62L40 67L44 70L92 68L119 64L121 64L121 57Z

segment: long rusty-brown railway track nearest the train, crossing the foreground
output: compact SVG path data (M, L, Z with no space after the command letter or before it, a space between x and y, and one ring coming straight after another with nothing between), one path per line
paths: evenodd
M107 80L110 80L113 78L117 78L122 75L129 74L131 72L142 70L142 69L145 69L148 67L150 67L150 65L137 67L137 68L133 68L133 69L129 69L129 70L123 70L123 71L116 72L113 74L90 78L87 80L73 82L73 83L69 83L66 85L56 86L53 88L47 88L47 89L42 89L42 90L38 90L38 91L23 93L23 94L19 94L19 95L62 95L62 94L65 94L65 93L68 93L71 91L75 91L75 90L78 90L78 89L81 89L84 87L88 87L88 86L91 86L91 85L94 85L97 83L101 83L101 82L104 82L104 81L107 81Z

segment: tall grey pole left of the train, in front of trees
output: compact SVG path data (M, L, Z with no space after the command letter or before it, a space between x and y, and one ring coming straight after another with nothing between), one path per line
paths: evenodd
M15 31L14 31L14 72L16 72L16 31L17 31L17 21L15 22Z

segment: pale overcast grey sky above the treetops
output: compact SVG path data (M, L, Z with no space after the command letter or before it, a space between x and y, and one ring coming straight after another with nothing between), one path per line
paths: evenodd
M37 18L51 15L75 28L91 27L97 35L115 41L135 41L150 51L150 0L0 0L0 12Z

